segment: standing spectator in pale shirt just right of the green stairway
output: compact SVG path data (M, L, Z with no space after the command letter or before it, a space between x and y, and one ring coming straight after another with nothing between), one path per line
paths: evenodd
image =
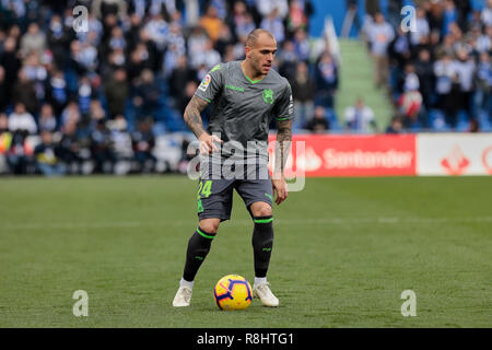
M389 83L389 61L388 46L395 38L395 32L386 22L383 13L375 15L375 22L370 27L368 40L371 44L371 54L374 59L374 80L377 88L388 86Z

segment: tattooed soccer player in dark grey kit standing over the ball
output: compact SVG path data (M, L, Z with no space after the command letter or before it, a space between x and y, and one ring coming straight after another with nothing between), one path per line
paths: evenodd
M188 241L174 306L190 304L195 276L220 223L231 218L233 189L254 221L253 293L265 306L279 305L267 282L267 271L273 244L273 194L277 205L288 197L284 166L292 140L293 103L289 82L271 69L276 52L277 42L270 32L253 31L246 40L245 59L213 67L185 109L185 120L200 141L199 223ZM200 113L209 103L213 109L204 130ZM270 178L268 131L272 117L278 131Z

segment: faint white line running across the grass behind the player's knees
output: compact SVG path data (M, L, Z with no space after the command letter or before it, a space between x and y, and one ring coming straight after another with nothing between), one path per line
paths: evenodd
M398 217L374 217L374 218L317 218L317 219L276 219L278 224L429 224L429 223L472 223L472 222L490 222L492 217L468 217L468 218L398 218ZM225 225L247 225L251 220L232 219L225 222ZM33 222L33 223L5 223L0 225L0 232L3 230L40 230L40 229L136 229L148 226L183 226L196 224L194 220L186 221L113 221L113 222Z

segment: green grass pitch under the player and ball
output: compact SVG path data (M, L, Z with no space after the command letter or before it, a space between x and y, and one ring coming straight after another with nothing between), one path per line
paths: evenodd
M222 276L254 278L236 195L191 306L172 306L196 190L179 176L1 178L0 327L492 327L491 177L307 179L274 208L281 306L239 312L212 301Z

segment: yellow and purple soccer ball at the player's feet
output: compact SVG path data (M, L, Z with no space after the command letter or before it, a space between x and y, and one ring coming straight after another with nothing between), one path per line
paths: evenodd
M224 276L213 289L213 299L221 310L247 308L253 301L251 285L242 276Z

